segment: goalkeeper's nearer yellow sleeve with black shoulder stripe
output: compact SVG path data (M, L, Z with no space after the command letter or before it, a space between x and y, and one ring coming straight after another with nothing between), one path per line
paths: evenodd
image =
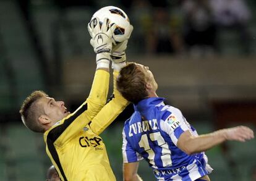
M95 117L106 103L109 73L96 70L92 89L87 100L72 114L57 122L45 132L45 142L62 146L74 137Z

